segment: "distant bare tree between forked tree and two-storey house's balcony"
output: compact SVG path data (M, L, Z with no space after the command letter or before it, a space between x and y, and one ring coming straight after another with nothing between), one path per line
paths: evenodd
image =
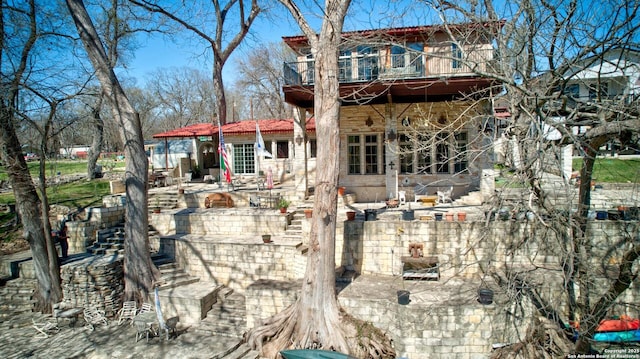
M283 44L266 44L251 50L238 60L240 74L236 85L241 93L253 99L250 106L256 118L291 117L280 89L284 85L282 64L292 60Z

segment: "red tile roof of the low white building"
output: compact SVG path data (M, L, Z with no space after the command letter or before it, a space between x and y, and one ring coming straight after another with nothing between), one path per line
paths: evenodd
M225 136L239 136L256 133L256 122L260 127L260 133L264 134L286 134L293 133L293 119L267 119L257 121L240 121L227 123L222 126L222 133ZM315 132L316 121L314 118L307 120L307 132ZM153 138L180 138L180 137L201 137L217 136L218 126L210 123L197 123L171 131L161 132L153 135Z

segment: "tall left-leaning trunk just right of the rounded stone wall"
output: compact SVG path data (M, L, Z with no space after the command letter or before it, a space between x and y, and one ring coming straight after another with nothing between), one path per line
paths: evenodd
M98 33L82 0L67 0L80 38L96 71L102 91L111 104L113 117L125 144L125 185L127 194L125 222L124 282L125 300L150 299L158 271L149 253L149 217L147 201L147 156L144 151L142 126L116 77Z

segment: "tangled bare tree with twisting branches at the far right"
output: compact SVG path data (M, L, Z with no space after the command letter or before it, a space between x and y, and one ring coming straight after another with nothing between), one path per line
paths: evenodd
M640 245L633 239L637 234L622 229L621 243L603 243L596 239L588 215L596 156L609 141L632 144L640 129L637 85L629 81L638 73L633 49L638 48L640 5L615 1L585 7L579 1L525 0L497 9L492 1L425 3L451 29L460 21L497 20L498 14L506 18L490 66L474 66L471 52L460 57L478 74L498 81L486 99L510 114L498 121L496 130L500 127L509 140L514 178L527 188L525 200L515 205L534 213L549 231L526 245L554 248L559 258L552 270L484 267L506 291L520 288L510 297L513 302L526 298L538 315L556 324L556 334L531 330L522 343L505 351L517 357L586 353L607 313L617 305L628 308L621 297L639 274ZM466 40L453 30L450 35L460 44ZM570 175L560 170L567 146L582 157L577 194ZM548 183L543 177L549 173L559 180ZM570 200L559 202L559 195ZM497 209L506 201L498 196L493 204ZM555 270L563 274L558 281L533 280L551 278ZM545 285L563 293L562 300L546 296ZM565 324L577 321L580 336L572 344ZM551 344L549 338L554 339Z

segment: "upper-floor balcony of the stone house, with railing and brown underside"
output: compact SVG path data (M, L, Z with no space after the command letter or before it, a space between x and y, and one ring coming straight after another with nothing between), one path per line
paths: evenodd
M394 102L424 102L427 92L430 100L449 99L490 85L478 73L487 71L492 58L493 49L460 51L455 57L451 51L341 56L340 96L343 105L383 103L389 95ZM284 64L285 101L313 106L314 65L313 59Z

